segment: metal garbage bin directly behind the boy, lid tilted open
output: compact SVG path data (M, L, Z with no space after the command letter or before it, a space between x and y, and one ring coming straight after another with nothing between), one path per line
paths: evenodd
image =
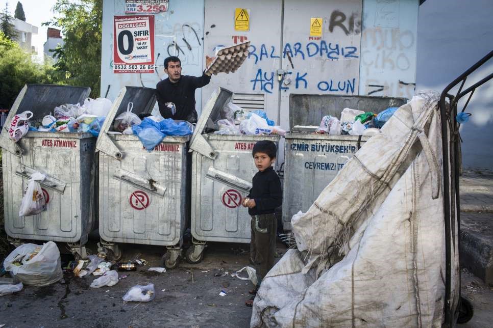
M260 140L278 144L280 139L278 135L207 133L232 96L224 88L214 90L190 141L192 246L185 258L192 264L202 261L207 241L250 243L250 216L241 201L258 172L252 148Z

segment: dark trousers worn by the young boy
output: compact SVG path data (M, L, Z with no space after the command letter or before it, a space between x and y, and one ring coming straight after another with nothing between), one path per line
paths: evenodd
M252 215L250 224L252 240L250 242L250 258L255 264L257 280L260 282L274 266L276 253L277 221L274 213Z

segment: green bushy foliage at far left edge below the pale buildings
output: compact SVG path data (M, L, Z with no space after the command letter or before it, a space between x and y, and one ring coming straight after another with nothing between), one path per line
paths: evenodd
M0 33L0 108L10 108L27 83L54 83L53 67L32 61L31 54Z

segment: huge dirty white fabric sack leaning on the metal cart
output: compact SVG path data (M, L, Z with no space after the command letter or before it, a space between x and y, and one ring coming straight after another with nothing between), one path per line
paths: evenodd
M252 327L441 327L446 261L438 99L435 92L417 93L306 213L292 217L297 249L263 279ZM455 309L457 233L453 239Z

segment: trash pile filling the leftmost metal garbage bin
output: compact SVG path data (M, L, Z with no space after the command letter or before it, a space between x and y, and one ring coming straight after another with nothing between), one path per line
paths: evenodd
M112 102L106 98L87 98L84 104L62 104L53 110L53 115L32 121L30 111L14 115L10 122L9 136L19 141L28 131L40 132L89 132L98 136L110 111Z

